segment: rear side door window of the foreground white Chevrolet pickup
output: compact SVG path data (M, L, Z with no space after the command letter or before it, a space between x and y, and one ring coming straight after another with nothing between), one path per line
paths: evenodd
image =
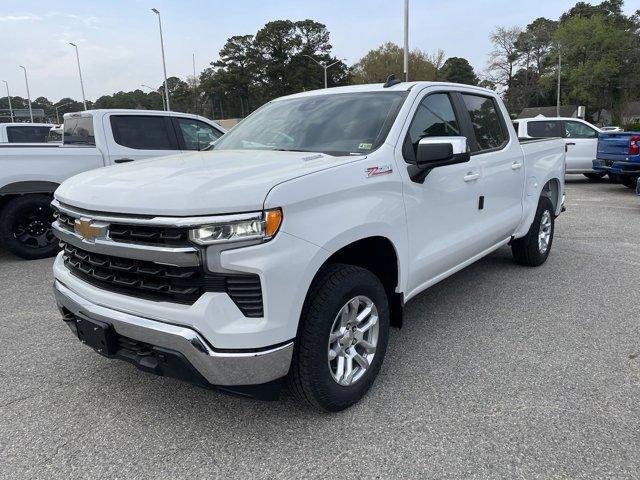
M491 97L462 94L478 144L476 151L502 148L509 141L506 125Z

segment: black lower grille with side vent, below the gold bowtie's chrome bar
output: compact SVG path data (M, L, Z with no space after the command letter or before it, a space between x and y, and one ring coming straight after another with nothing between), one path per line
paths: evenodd
M264 316L262 287L257 275L206 273L201 267L173 267L62 245L67 268L99 288L187 304L195 302L204 292L226 292L246 317Z

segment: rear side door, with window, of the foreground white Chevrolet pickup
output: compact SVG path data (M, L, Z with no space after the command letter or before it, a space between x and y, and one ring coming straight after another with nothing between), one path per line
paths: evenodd
M524 160L520 142L511 139L505 113L495 98L460 93L471 121L471 158L480 165L478 199L481 230L476 241L486 250L509 238L522 219Z

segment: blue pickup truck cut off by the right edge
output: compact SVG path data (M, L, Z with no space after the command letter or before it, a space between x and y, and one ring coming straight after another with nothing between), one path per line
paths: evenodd
M593 168L635 189L640 177L640 132L603 133Z

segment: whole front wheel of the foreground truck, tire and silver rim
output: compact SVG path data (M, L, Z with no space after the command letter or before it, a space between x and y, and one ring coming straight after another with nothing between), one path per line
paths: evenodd
M384 286L364 268L323 267L309 289L300 322L290 390L325 411L353 405L371 388L387 349Z

